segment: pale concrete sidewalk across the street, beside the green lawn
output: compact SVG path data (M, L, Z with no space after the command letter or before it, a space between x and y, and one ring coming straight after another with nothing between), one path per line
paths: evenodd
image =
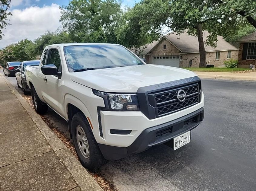
M256 72L195 72L199 78L229 79L229 80L252 80L256 81Z

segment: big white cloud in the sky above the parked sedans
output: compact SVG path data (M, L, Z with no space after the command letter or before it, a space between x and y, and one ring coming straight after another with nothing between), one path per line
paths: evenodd
M10 24L12 25L2 30L5 36L0 41L0 48L25 38L34 40L46 30L53 32L61 26L59 5L54 3L41 8L32 6L23 10L14 9L11 12Z

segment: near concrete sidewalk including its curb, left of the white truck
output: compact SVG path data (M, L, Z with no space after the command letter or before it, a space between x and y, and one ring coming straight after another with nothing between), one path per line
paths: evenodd
M1 73L0 190L102 191Z

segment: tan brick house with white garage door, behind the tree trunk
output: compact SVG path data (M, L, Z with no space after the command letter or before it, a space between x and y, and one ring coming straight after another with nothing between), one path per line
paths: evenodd
M209 36L204 31L204 42ZM207 64L218 67L223 65L223 61L228 59L238 59L238 49L218 36L217 47L205 46ZM199 67L199 45L197 37L189 36L188 33L176 35L170 33L133 50L141 58L145 58L148 64L168 65L175 67Z

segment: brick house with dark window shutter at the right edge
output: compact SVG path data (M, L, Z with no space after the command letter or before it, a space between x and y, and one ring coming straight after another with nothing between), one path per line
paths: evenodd
M249 68L256 64L256 31L240 39L238 53L238 68Z

